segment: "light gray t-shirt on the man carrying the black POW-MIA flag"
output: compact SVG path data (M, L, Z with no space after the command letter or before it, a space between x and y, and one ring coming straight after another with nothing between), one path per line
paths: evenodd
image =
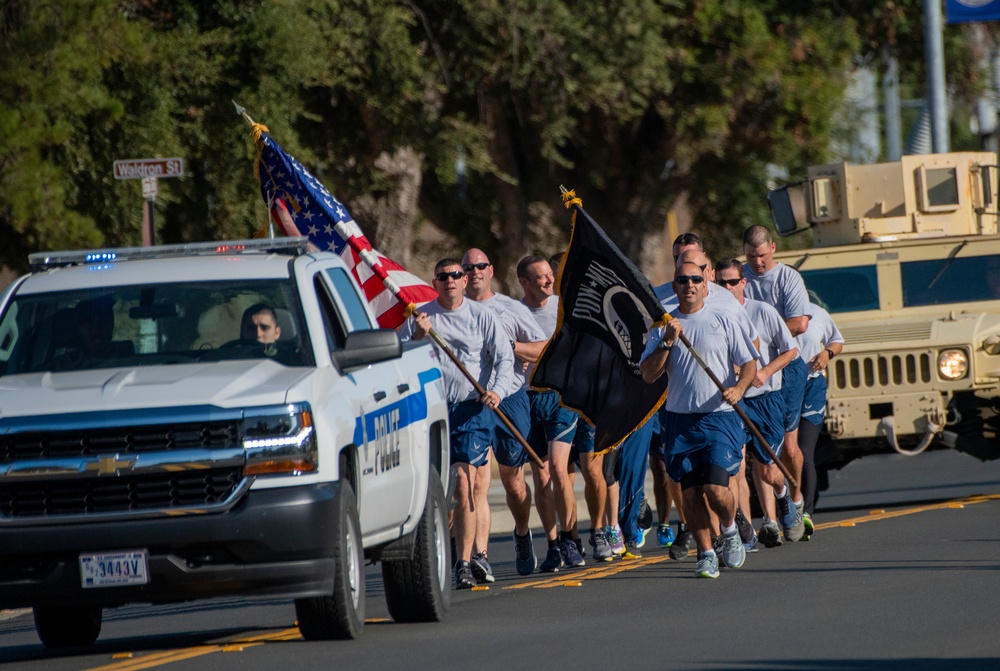
M726 388L736 384L733 366L742 366L757 357L753 343L747 341L746 334L729 311L705 305L689 315L678 309L670 316L681 322L691 346ZM653 347L655 345L647 346L647 354L652 352ZM732 412L733 406L722 400L722 392L684 345L678 343L670 350L666 372L670 376L670 391L665 405L669 412Z

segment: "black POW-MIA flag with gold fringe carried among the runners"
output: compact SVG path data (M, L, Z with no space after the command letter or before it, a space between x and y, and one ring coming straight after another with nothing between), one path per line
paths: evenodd
M559 268L556 331L531 377L533 389L596 427L598 452L614 449L642 426L667 395L667 376L647 384L639 361L663 308L649 280L583 210L572 191L573 233Z

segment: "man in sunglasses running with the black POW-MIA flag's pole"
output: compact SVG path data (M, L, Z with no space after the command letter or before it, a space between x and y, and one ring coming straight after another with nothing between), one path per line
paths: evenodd
M674 291L678 307L670 313L672 319L651 334L640 369L650 383L664 373L670 376L667 472L681 483L684 511L698 545L695 576L717 578L719 558L712 548L709 508L721 523L720 549L725 565L739 568L746 560L729 478L739 468L744 436L733 404L740 401L757 374L756 353L728 313L706 307L708 284L700 266L679 264ZM682 333L690 347L674 347ZM722 371L723 389L704 374L693 348L700 352L707 369Z

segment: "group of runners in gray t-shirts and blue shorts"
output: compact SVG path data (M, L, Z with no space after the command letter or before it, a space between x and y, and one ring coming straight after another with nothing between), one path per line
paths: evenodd
M696 547L697 577L717 577L720 564L739 568L758 544L776 547L812 534L813 457L826 404L823 370L843 338L829 314L809 301L798 273L774 260L774 250L762 226L744 232L746 264L723 259L712 265L693 233L674 241L673 281L655 289L670 319L650 333L641 363L647 381L669 376L667 400L619 448L603 455L595 453L593 426L562 407L556 392L529 389L532 366L556 328L558 259L521 259L520 301L492 290L493 265L479 249L436 264L438 300L404 324L401 335L419 340L433 329L478 381L474 385L448 357L441 358L456 472L456 588L494 580L487 547L491 449L514 518L520 575L585 565L588 547L577 529L577 470L584 479L594 561L641 556L654 526L644 493L647 467L653 474L657 542L669 547L674 559ZM542 459L542 465L531 464L534 504L548 543L541 561L529 528L528 451L497 421L496 407ZM757 438L739 414L759 429ZM747 470L763 512L756 529ZM679 519L676 532L669 523L672 507Z

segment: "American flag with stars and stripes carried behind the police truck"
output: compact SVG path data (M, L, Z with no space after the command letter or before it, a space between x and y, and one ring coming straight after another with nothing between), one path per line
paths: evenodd
M437 298L433 287L380 252L347 208L267 133L254 124L260 193L286 235L306 235L321 251L340 255L368 299L382 328L398 328L407 306Z

